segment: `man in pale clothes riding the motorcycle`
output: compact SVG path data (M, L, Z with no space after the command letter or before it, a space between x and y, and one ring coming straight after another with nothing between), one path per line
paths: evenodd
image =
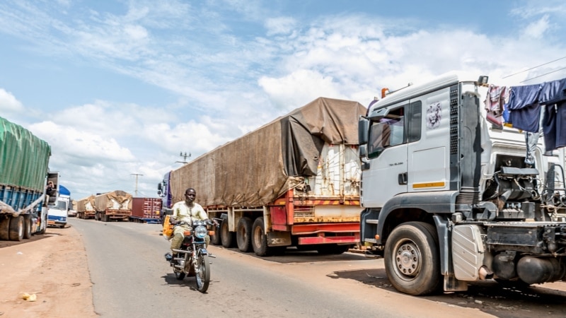
M204 211L204 208L195 202L195 198L197 197L197 192L195 189L188 188L185 190L185 201L178 201L176 204L173 204L173 215L169 218L169 223L171 224L178 224L183 223L178 226L175 226L175 230L173 230L173 238L171 239L171 250L179 249L181 246L181 242L183 242L183 238L185 238L185 231L192 230L191 224L192 220L207 220L208 215L207 212ZM207 246L210 242L210 237L207 235L205 238L207 242ZM173 252L173 257L175 257L175 252Z

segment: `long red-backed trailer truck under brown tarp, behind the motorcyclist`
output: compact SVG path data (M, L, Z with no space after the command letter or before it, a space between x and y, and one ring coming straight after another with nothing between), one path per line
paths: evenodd
M168 172L163 215L185 189L224 247L266 256L287 247L340 254L359 242L359 102L318 98Z

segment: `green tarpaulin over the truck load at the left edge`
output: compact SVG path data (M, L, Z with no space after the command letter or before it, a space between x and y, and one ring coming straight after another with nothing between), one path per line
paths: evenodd
M28 129L0 117L0 185L43 192L51 148Z

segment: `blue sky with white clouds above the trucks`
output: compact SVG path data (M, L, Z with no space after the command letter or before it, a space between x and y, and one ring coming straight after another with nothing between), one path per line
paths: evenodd
M562 0L4 0L0 117L50 144L73 199L157 197L166 172L318 97L565 78L565 20Z

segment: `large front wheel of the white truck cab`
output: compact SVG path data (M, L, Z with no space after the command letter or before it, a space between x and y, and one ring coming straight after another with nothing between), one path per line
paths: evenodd
M409 222L395 228L383 259L391 285L402 293L426 295L440 286L438 234L430 224Z

